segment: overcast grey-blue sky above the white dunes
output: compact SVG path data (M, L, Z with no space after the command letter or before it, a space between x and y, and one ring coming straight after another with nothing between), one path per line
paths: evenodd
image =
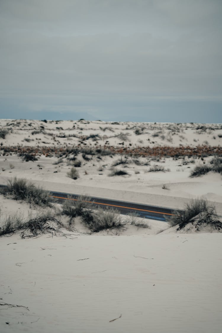
M222 0L0 0L0 118L222 123Z

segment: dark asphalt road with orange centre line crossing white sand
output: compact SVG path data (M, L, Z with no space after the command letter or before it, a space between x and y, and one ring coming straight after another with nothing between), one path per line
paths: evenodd
M0 185L0 187L5 187L6 185ZM64 192L50 192L50 197L52 202L62 203L65 200L77 201L80 195L64 193ZM150 218L153 220L166 221L165 216L173 215L173 209L144 205L139 203L132 203L119 200L104 199L98 197L90 197L89 202L93 204L93 207L97 209L98 207L115 208L120 211L121 214L136 213L138 216L143 218Z

